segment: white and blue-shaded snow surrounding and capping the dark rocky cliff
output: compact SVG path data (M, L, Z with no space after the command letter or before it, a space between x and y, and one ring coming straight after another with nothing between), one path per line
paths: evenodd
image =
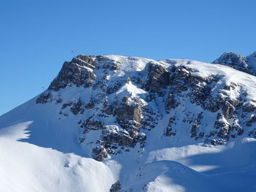
M149 61L165 68L187 65L199 76L218 74L226 85L230 82L241 85L248 93L248 100L256 101L256 77L228 66L183 59L105 57L121 64L116 74L108 76L109 83L113 83L113 76L143 72ZM238 92L233 91L233 97ZM116 96L127 93L143 100L146 92L127 82ZM55 96L86 103L93 94L91 88L73 86L56 92ZM135 146L127 153L98 162L91 158L90 142L95 142L99 132L90 132L86 147L81 146L78 141L81 130L77 125L80 115L69 113L69 117L60 118L60 107L54 103L35 104L35 99L31 99L0 117L0 191L107 192L117 180L121 181L121 191L133 192L256 191L256 139L243 137L223 146L198 144L182 134L170 139L163 137L167 124L164 118L156 128L146 132L143 150ZM116 125L108 127L108 131L117 130Z

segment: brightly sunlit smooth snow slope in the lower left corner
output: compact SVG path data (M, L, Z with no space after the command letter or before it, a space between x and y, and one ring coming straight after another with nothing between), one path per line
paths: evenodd
M32 124L20 121L0 129L1 191L105 192L116 181L108 166L92 158L20 142L29 138L26 128ZM62 145L69 143L63 141Z

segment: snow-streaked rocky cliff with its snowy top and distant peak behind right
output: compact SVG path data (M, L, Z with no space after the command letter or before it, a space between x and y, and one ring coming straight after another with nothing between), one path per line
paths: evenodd
M56 104L73 118L80 145L102 161L143 151L151 130L162 138L224 145L256 137L256 78L246 58L225 53L214 64L116 55L78 55L65 62L37 104Z

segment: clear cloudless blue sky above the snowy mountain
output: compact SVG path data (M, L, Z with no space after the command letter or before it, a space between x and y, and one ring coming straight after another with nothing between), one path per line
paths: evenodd
M0 115L75 55L211 62L256 50L255 0L0 0Z

